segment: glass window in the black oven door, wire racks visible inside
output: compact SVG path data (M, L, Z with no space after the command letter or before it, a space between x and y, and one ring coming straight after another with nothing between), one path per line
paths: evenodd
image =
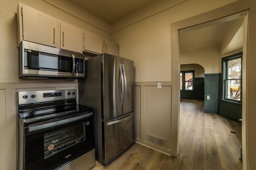
M44 159L85 140L85 126L80 123L44 134Z

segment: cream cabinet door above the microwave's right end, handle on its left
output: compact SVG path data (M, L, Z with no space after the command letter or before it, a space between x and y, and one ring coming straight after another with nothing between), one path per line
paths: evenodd
M60 23L60 48L82 53L82 29L66 22Z

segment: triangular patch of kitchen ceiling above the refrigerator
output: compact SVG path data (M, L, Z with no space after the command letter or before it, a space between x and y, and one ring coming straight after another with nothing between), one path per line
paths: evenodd
M87 12L107 23L117 20L139 10L156 0L70 0Z

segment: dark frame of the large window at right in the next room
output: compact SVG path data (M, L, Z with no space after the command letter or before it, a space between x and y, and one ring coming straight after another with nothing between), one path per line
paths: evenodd
M235 78L235 79L230 79L228 78L228 61L234 60L234 59L241 59L241 75L240 75L240 79L239 78ZM234 99L230 99L227 98L226 94L228 93L228 81L230 80L240 80L240 100L234 100ZM226 100L226 101L230 101L230 102L236 102L236 103L240 103L242 104L242 52L241 53L237 53L234 55L230 55L228 57L223 57L222 58L222 100Z

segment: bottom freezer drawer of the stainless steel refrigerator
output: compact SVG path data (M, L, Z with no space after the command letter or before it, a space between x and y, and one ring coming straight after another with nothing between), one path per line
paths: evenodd
M134 143L133 112L102 122L104 125L103 162L109 164Z

